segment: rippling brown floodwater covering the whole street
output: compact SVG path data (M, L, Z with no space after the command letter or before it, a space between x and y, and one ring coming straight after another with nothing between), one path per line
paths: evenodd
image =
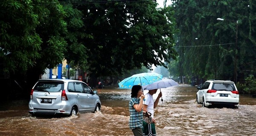
M195 102L196 87L179 85L161 91L163 103L160 100L154 115L158 136L256 136L255 98L240 95L239 109L203 108ZM130 93L131 89L117 87L98 90L101 112L71 117L32 117L27 100L1 104L0 136L132 136Z

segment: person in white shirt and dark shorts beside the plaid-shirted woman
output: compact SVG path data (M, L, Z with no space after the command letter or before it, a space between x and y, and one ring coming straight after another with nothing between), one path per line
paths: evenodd
M154 108L157 107L160 97L162 97L162 92L160 92L157 96L157 99L154 101L153 94L157 93L157 89L149 90L148 94L145 94L145 102L143 105L143 111L147 112L149 115L151 113L152 123L148 124L143 121L143 134L144 136L157 136L155 125L156 123L154 119Z

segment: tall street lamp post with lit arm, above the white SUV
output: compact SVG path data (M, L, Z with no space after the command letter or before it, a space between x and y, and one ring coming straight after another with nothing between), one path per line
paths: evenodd
M227 19L222 19L222 18L217 18L217 20L227 20ZM237 83L237 31L238 31L238 20L228 20L228 21L233 21L236 22L236 51L235 51L235 64L234 64L234 81Z

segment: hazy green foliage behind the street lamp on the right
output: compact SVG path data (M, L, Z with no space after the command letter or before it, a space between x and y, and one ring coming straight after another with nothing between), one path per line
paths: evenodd
M256 9L252 0L174 0L172 6L179 30L175 38L180 76L234 81L236 60L238 80L256 75L256 37L252 37Z

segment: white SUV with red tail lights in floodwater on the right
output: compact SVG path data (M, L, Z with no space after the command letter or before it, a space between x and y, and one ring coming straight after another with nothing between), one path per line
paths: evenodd
M208 80L198 86L196 101L203 107L211 105L231 105L239 108L239 91L234 82L224 80Z

